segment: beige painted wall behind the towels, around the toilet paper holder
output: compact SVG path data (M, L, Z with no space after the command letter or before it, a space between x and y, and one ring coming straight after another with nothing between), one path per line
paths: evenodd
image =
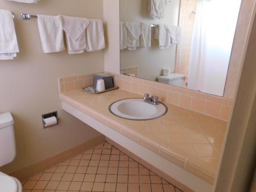
M102 0L42 0L38 4L1 1L1 9L15 13L20 53L0 61L0 113L11 112L15 121L16 159L1 170L11 173L91 139L99 133L61 110L57 78L101 71L103 51L68 55L42 53L36 19L20 13L65 14L103 19ZM41 114L59 112L59 125L42 129Z

